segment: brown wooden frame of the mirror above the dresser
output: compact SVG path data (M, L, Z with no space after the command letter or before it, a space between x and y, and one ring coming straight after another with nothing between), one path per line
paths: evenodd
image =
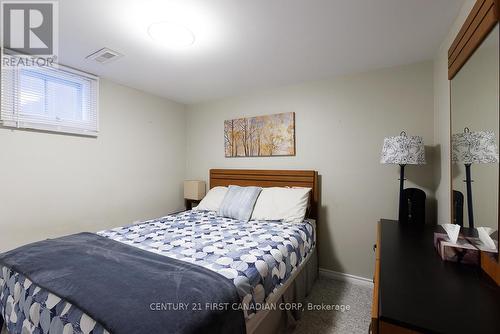
M489 33L500 22L500 0L476 0L474 7L467 16L457 36L448 49L448 80L451 80L467 63L474 51L486 39ZM500 112L500 110L499 110ZM450 148L451 148L451 100L450 100ZM451 175L451 149L450 149L450 199L453 198L453 182ZM500 179L500 177L499 177ZM500 184L499 184L500 188ZM450 201L450 211L453 217L453 201ZM498 203L498 239L500 240L500 196ZM500 285L500 256L491 257L481 252L481 268Z

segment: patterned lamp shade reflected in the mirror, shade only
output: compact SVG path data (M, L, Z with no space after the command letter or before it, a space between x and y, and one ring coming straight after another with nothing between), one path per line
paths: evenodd
M488 164L498 162L498 147L493 131L469 131L451 137L453 162Z

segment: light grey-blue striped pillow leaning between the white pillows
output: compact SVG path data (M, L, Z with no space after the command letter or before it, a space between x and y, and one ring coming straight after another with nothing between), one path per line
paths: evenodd
M245 222L249 221L261 190L260 187L229 186L220 205L219 215Z

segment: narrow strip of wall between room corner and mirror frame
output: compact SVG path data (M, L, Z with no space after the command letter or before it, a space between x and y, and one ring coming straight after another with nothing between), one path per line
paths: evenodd
M437 217L439 224L451 222L451 165L450 165L450 84L448 80L448 49L462 27L475 0L465 0L460 14L450 28L434 59L434 139L436 146L434 168Z

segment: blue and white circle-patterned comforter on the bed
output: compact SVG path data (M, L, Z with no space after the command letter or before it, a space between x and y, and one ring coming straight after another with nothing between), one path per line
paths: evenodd
M315 246L315 230L308 221L242 222L194 210L98 234L231 279L246 318L258 309L252 306L276 293ZM0 268L0 312L11 333L106 333L74 305L8 268Z

